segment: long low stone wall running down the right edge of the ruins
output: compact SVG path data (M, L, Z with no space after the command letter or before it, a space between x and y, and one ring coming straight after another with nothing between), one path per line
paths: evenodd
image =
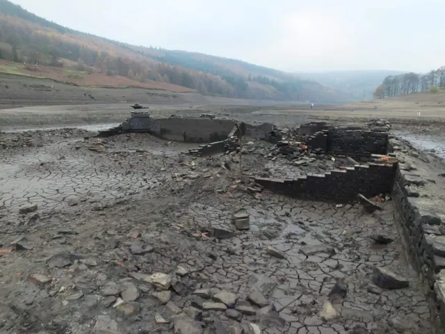
M389 142L392 150L395 142ZM445 328L445 229L444 221L431 207L437 203L419 198L409 189L415 170L409 172L397 167L392 191L396 221L400 223L405 239L405 251L410 256L421 280L428 285L430 312L437 328ZM429 204L429 205L428 205ZM438 331L437 333L443 333Z

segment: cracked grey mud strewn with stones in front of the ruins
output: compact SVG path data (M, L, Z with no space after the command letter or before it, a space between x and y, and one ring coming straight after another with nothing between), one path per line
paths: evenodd
M368 214L257 192L225 154L190 157L195 145L146 134L0 138L0 333L431 331L391 201ZM248 141L230 157L252 176L334 167L293 166L273 149ZM248 230L232 224L240 209ZM376 286L375 267L400 289Z

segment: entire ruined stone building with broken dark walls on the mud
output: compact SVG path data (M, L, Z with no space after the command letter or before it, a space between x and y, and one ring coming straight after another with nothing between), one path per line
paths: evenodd
M419 175L398 161L398 143L389 136L387 120L371 120L366 127L337 127L325 122L310 122L297 129L277 129L264 123L250 125L209 117L152 118L148 113L132 113L122 125L99 136L125 132L148 132L170 141L200 143L189 154L205 156L240 149L240 138L253 138L276 145L282 154L300 164L302 157L345 157L348 166L327 173L307 173L293 179L256 177L262 189L305 200L360 202L372 212L378 202L369 198L389 196L396 207L396 218L416 270L428 286L430 303L445 328L445 229L440 216L419 201L416 186ZM243 217L239 218L241 223ZM241 224L240 223L240 224Z

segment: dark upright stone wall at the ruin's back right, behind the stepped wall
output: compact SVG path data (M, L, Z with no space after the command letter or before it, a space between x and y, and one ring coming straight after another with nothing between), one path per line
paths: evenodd
M327 154L371 157L371 154L387 153L388 134L336 127L312 134L306 143L312 150Z

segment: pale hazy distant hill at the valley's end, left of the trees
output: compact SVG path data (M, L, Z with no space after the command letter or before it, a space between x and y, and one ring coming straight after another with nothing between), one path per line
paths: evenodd
M297 73L299 77L314 80L346 93L353 100L373 100L375 88L385 77L401 74L391 70L332 71Z

